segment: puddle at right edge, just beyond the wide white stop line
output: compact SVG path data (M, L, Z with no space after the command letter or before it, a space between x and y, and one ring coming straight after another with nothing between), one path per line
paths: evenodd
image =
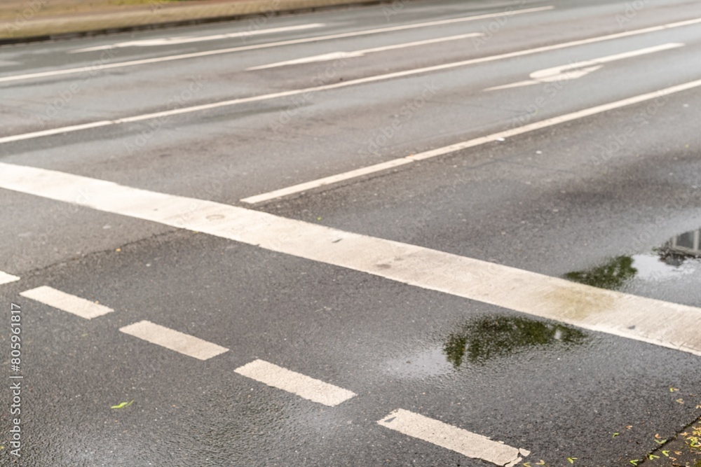
M701 229L669 239L649 253L617 256L566 279L660 300L701 302Z

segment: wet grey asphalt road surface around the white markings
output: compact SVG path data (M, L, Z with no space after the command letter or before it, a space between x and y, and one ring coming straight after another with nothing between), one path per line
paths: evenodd
M263 46L547 6L554 8ZM644 31L698 18L701 4L684 1L416 1L2 47L0 162L701 307L701 260L693 257L699 88L268 202L241 201L699 80L701 22ZM288 29L153 41L269 28ZM468 33L482 36L245 71ZM76 52L114 44L121 46ZM203 55L247 46L260 47ZM200 55L52 74L186 53ZM603 66L485 91L578 62L588 65L576 70ZM36 73L44 75L24 76ZM2 81L9 76L24 77ZM12 139L98 121L108 123ZM0 189L0 270L20 277L0 285L0 377L13 375L12 302L22 309L22 370L14 375L23 376L19 458L10 453L13 396L0 391L2 465L494 465L377 423L402 408L527 449L532 464L629 466L658 447L656 434L669 438L701 415L696 354L79 205L93 195L76 193L78 204L69 204ZM40 286L114 312L88 320L19 295ZM200 361L119 330L142 320L228 351ZM258 358L356 395L327 407L234 372Z

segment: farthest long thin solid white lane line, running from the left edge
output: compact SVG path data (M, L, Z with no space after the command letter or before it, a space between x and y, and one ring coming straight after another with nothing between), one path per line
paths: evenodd
M468 16L466 18L453 18L452 20L420 22L420 23L414 23L411 25L381 27L379 29L366 29L364 31L341 32L339 34L328 34L326 36L305 37L303 39L290 39L288 41L279 41L279 42L271 42L271 43L264 43L264 44L254 44L251 46L240 46L240 47L231 47L231 48L224 48L224 49L218 49L218 50L205 50L203 52L193 52L193 53L183 53L183 54L179 54L179 55L169 55L168 57L154 57L154 58L145 58L145 59L141 59L141 60L129 60L127 62L94 64L94 65L91 65L89 67L77 67L77 68L68 68L68 69L62 69L62 70L39 71L38 73L29 73L29 74L23 74L23 75L15 75L15 76L0 76L0 83L4 83L4 82L8 82L8 81L20 81L20 80L32 79L32 78L45 78L47 76L59 76L59 75L66 75L66 74L85 73L85 72L93 74L93 73L96 73L97 71L111 69L111 68L135 67L137 65L144 65L144 64L150 64L150 63L160 63L160 62L170 62L171 60L184 60L184 59L195 58L195 57L207 57L210 55L219 55L219 54L224 54L224 53L241 52L243 50L258 50L258 49L262 49L262 48L290 46L293 44L301 44L301 43L308 43L308 42L329 41L331 39L343 39L345 37L365 36L367 34L379 34L379 33L383 33L383 32L401 31L404 29L416 29L419 27L426 27L426 26L447 25L447 24L456 23L456 22L477 21L477 20L484 20L487 18L502 18L502 17L511 16L511 15L522 15L524 13L536 13L537 11L552 10L552 8L555 8L555 7L554 6L540 6L538 8L526 8L525 10L518 10L518 11L510 11L510 12L503 12L503 13L489 13L486 15Z

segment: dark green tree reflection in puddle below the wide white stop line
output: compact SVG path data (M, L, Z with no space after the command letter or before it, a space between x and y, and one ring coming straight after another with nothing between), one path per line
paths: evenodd
M463 360L477 365L533 347L581 344L586 334L564 324L513 316L484 316L448 336L443 352L454 368Z

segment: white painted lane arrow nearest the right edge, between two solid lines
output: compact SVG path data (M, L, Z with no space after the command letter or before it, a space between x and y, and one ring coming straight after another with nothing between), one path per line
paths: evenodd
M673 48L679 48L683 46L685 46L685 44L679 42L672 42L662 44L661 46L641 48L639 50L633 50L632 52L617 53L615 55L608 55L606 57L585 60L583 62L576 62L566 65L559 65L558 67L545 68L542 70L533 71L533 73L529 75L531 77L530 80L517 81L516 83L494 86L492 88L486 88L484 91L521 88L522 86L530 86L540 83L552 83L554 81L568 81L572 79L582 78L587 74L601 69L601 67L604 67L604 64L608 62L615 62L615 60L639 57L640 55L647 55L649 53L661 52L662 50L670 50Z

